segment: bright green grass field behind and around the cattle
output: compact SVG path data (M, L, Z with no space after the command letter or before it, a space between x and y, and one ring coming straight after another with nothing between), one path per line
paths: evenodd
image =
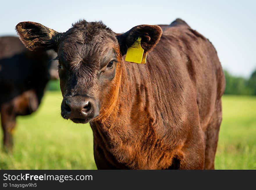
M0 151L0 169L97 169L89 124L63 120L61 101L59 91L47 92L38 111L18 117L13 152ZM215 167L256 169L256 97L223 97Z

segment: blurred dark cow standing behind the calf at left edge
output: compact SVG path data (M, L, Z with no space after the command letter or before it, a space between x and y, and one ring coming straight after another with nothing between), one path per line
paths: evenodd
M0 112L5 148L13 146L16 116L36 111L50 76L58 77L52 57L50 52L26 49L18 37L0 37Z

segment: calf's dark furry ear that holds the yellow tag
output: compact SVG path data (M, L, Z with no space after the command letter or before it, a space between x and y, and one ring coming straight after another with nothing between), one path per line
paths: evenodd
M125 55L127 48L129 48L135 42L136 37L141 37L141 47L144 51L148 52L154 48L159 42L162 29L157 25L138 25L131 30L117 35L120 51L122 55Z

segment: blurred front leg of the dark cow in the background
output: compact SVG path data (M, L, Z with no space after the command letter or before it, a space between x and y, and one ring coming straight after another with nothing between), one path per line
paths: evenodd
M1 125L3 128L3 145L6 150L13 147L13 130L16 124L16 115L13 104L5 103L1 106Z

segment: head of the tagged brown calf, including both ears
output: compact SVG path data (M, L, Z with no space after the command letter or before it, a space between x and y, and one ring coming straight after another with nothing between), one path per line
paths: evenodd
M16 30L31 50L53 49L63 95L61 115L75 123L107 117L114 109L121 82L122 56L141 37L151 50L159 41L159 26L139 25L117 34L102 22L79 21L66 32L56 32L35 22L20 22Z

